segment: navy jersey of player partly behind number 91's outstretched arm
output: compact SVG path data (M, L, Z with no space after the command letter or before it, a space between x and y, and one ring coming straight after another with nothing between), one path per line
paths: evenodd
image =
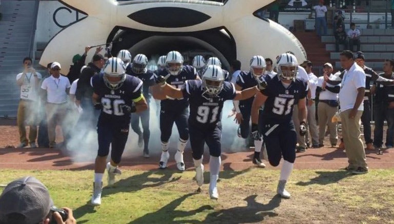
M163 70L157 75L166 77L168 75L167 70ZM182 89L185 86L186 80L196 79L197 72L194 67L185 65L182 71L178 75L169 75L166 82L174 88ZM161 108L164 110L178 110L179 108L185 108L189 106L189 102L186 98L173 99L167 98L161 101Z

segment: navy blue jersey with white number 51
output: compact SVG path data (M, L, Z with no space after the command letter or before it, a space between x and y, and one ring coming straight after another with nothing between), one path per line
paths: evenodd
M261 92L268 96L263 110L264 121L282 124L291 120L293 105L308 94L308 83L296 78L285 88L279 76L275 76L267 80L267 88Z

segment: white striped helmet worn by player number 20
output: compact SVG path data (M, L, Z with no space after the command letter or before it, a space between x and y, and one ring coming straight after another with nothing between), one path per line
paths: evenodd
M126 66L121 58L108 58L104 66L104 83L112 89L119 89L126 79Z

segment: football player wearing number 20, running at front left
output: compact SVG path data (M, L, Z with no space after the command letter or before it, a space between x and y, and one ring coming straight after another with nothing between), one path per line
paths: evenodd
M121 174L117 165L121 162L129 134L130 114L148 108L141 90L142 81L125 72L122 60L111 57L105 65L104 74L92 77L93 104L97 110L101 110L97 122L99 150L94 164L92 205L101 204L105 169L108 172L108 186L114 184L115 175ZM106 164L110 145L111 160Z

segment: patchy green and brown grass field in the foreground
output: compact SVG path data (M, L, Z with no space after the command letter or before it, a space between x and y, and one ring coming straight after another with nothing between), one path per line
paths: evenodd
M217 201L209 199L208 185L195 193L194 172L124 170L116 188L103 190L100 207L89 204L93 171L1 174L0 184L26 175L40 179L57 207L73 209L77 223L394 223L394 170L358 176L294 170L291 199L275 196L278 170L224 171Z

